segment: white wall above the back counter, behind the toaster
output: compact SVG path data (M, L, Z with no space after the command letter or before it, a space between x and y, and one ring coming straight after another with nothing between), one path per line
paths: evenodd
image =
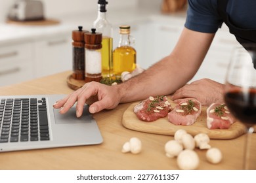
M0 0L0 23L5 22L9 8L16 0ZM41 0L46 17L97 10L98 0ZM137 7L140 0L108 0L108 9ZM160 1L160 0L158 0Z

